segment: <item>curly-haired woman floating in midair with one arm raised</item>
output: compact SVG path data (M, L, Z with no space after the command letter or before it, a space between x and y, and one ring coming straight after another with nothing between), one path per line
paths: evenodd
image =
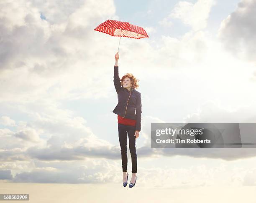
M141 93L138 88L138 81L131 73L126 73L121 79L118 73L119 54L115 54L114 85L118 94L118 105L113 113L118 115L118 137L121 147L123 186L127 185L127 134L129 138L129 150L132 160L132 177L129 187L132 188L137 180L137 153L136 139L141 131ZM121 81L121 82L120 82ZM136 112L136 114L135 114Z

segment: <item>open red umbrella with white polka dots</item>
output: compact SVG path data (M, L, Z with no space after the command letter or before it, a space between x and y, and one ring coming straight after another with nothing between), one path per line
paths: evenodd
M102 33L107 33L115 37L120 36L120 39L121 37L135 38L135 39L149 38L148 34L143 28L128 22L121 22L118 20L106 20L104 23L101 23L94 30ZM119 45L120 45L120 39L119 39ZM119 45L118 45L118 51L119 51Z

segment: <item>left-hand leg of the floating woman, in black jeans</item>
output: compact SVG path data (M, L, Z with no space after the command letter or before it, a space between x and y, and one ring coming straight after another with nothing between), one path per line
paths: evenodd
M127 171L127 131L125 129L126 125L118 123L118 137L121 147L121 157L122 157L122 168L123 172Z

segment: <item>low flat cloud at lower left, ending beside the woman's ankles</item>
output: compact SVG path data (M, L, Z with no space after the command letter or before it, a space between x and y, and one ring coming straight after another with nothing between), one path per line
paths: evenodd
M38 163L39 164L39 163ZM27 183L109 183L117 182L118 167L101 159L88 159L83 162L40 162L40 167L17 173L13 182ZM119 180L120 181L120 180ZM118 182L119 182L118 181Z

